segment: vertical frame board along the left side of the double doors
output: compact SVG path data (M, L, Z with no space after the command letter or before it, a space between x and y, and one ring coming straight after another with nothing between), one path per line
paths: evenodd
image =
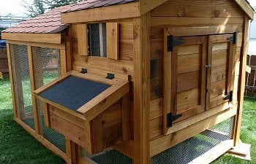
M164 93L163 93L163 130L164 134L167 133L167 114L170 113L170 93L171 93L171 62L172 62L172 53L167 52L167 36L170 35L165 28L164 31Z

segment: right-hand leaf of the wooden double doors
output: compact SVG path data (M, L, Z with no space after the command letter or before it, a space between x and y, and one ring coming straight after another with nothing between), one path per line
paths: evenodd
M230 101L227 95L233 92L235 77L236 42L233 38L233 34L209 36L208 64L211 67L207 71L207 110Z

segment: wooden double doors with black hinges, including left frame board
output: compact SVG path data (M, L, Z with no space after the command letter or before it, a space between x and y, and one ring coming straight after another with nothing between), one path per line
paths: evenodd
M232 101L235 39L235 34L175 37L165 30L165 132Z

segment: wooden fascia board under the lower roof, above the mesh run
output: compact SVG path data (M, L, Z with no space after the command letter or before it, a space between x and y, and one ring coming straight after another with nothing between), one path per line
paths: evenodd
M2 33L1 38L20 42L61 44L61 34Z

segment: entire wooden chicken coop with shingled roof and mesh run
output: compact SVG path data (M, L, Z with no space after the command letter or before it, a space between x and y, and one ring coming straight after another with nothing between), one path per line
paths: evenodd
M239 144L253 14L88 0L8 28L15 120L67 163L211 163Z

